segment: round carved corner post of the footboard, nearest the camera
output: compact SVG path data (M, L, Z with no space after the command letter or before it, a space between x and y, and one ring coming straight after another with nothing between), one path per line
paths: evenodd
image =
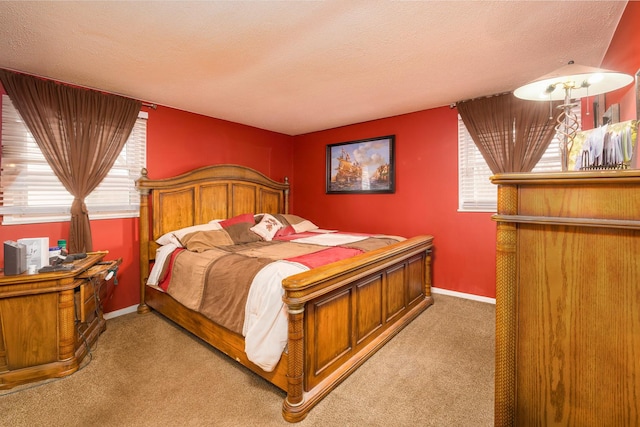
M282 406L282 415L289 422L299 419L292 417L292 409L304 403L304 304L288 305L289 312L289 354L287 356L287 397ZM305 414L306 415L306 414ZM302 417L304 418L304 416Z

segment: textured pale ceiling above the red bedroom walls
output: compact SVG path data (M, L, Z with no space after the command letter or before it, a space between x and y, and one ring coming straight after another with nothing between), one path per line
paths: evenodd
M0 67L297 135L600 66L622 1L0 1Z

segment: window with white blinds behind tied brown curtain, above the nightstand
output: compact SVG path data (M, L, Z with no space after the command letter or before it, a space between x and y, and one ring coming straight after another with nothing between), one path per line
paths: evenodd
M86 198L91 219L138 216L135 180L146 165L147 116L140 112L111 171ZM54 175L7 95L2 96L1 160L3 225L69 220L73 197Z

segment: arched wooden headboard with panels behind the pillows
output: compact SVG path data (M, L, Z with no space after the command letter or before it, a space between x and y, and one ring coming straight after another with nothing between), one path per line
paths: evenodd
M238 165L213 165L172 178L136 181L140 191L140 275L146 283L155 240L165 233L243 213L289 213L289 181Z

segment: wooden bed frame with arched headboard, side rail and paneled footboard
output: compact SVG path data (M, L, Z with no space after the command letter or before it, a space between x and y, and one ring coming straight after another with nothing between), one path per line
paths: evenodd
M171 319L287 393L289 422L309 410L433 303L431 236L419 236L283 281L288 351L273 370L250 362L241 335L147 286L163 234L243 213L289 213L289 183L237 165L203 167L137 181L140 198L140 306Z

